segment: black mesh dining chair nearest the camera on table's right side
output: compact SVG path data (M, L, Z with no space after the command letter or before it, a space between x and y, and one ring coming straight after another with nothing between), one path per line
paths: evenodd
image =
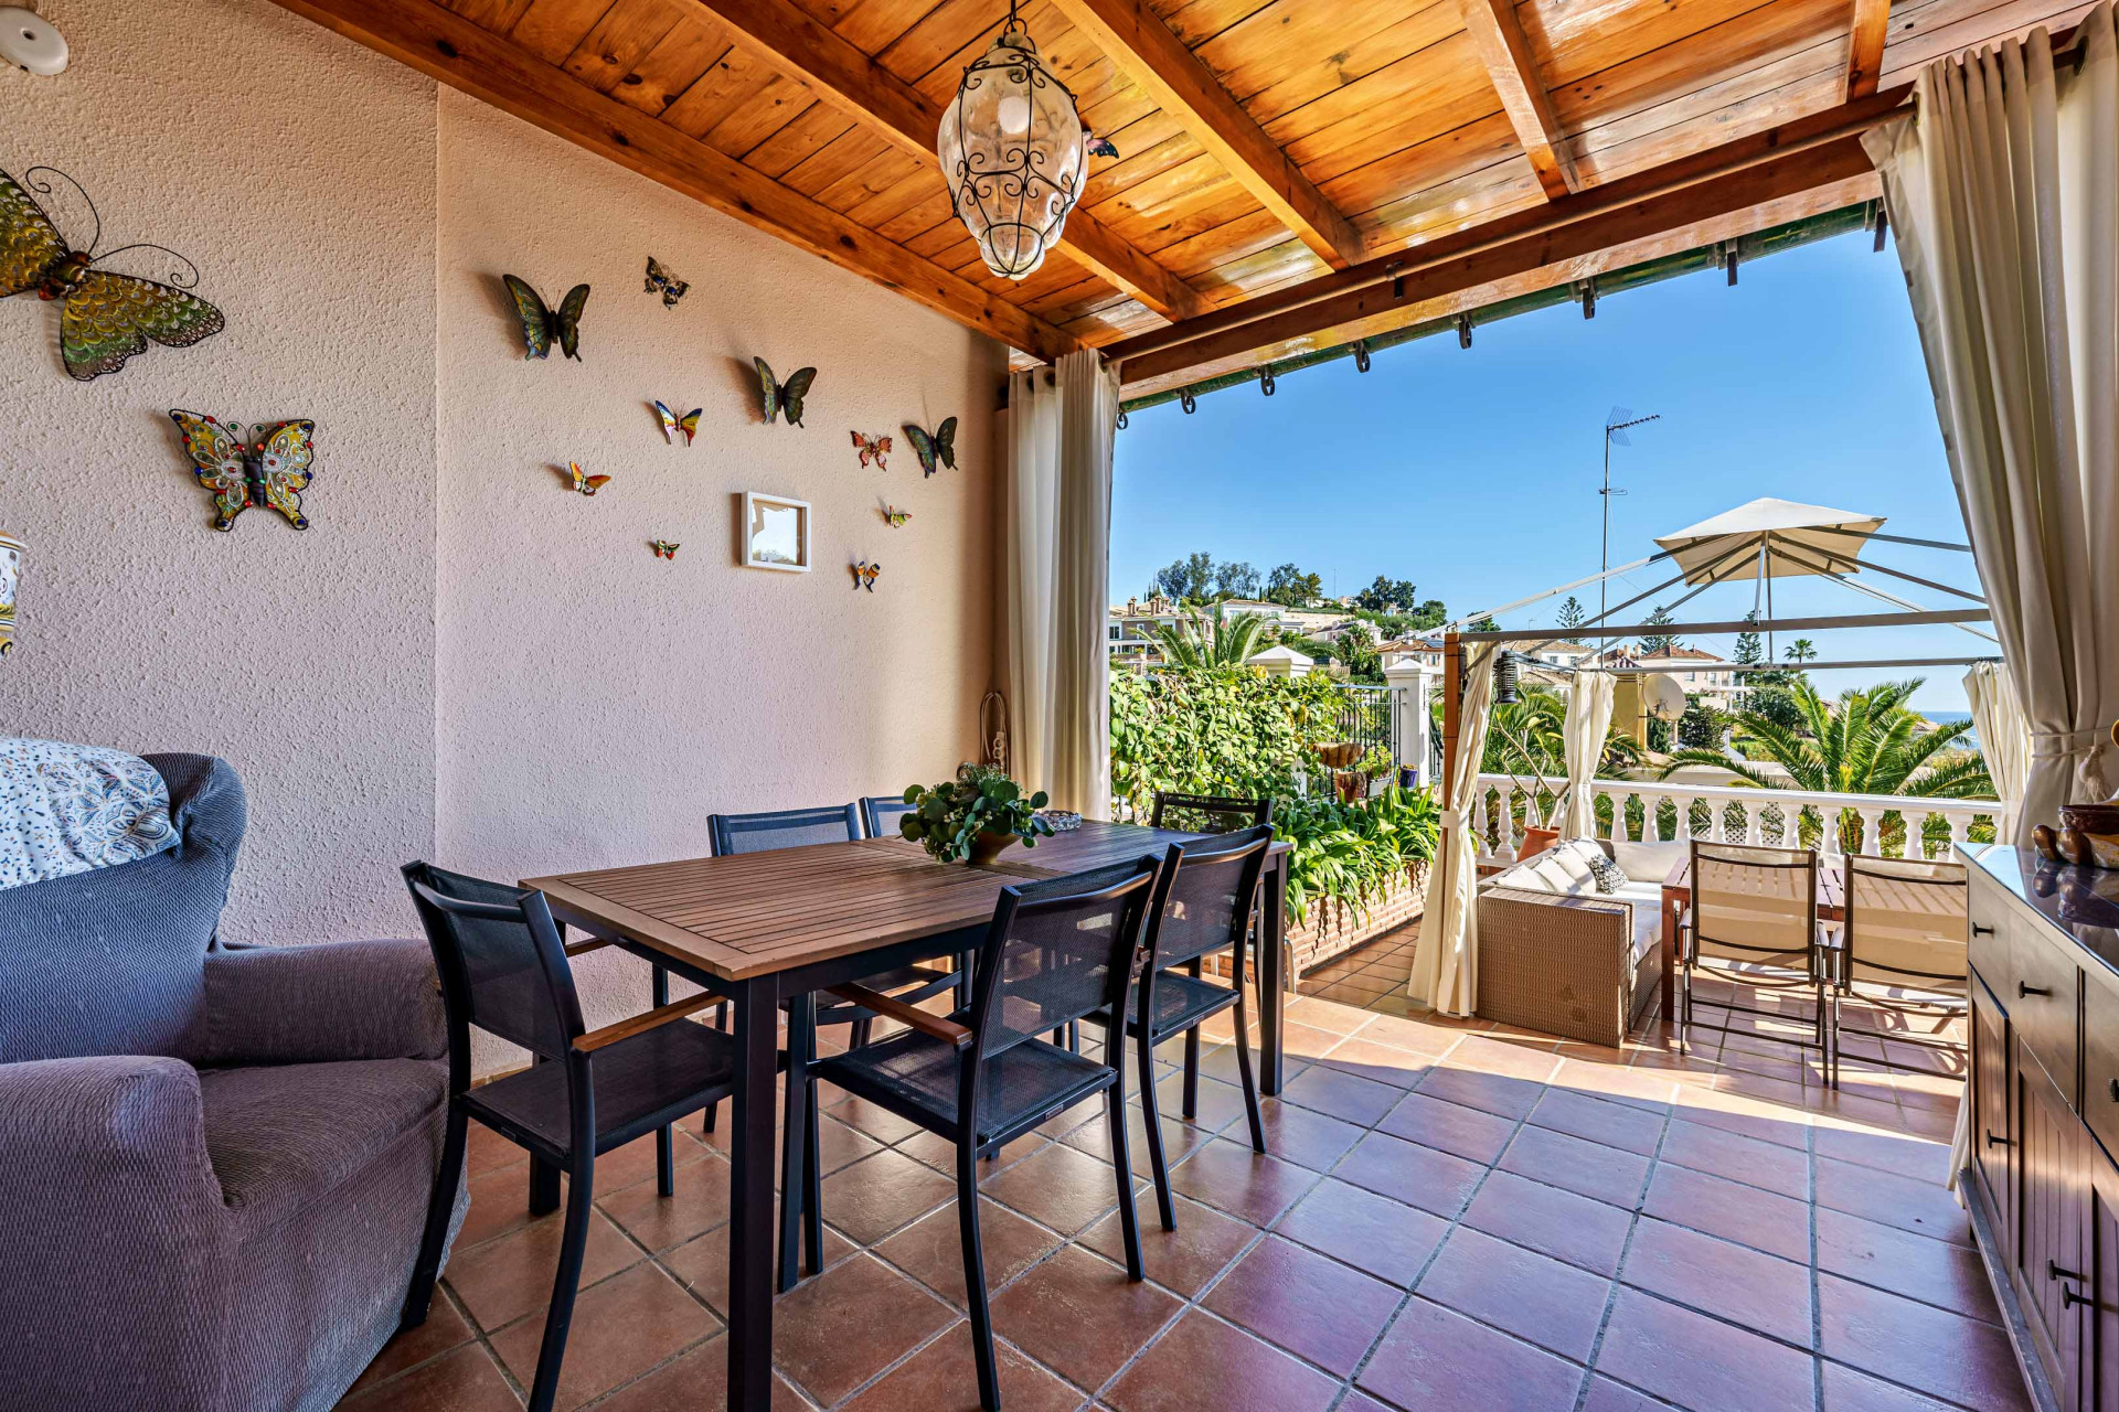
M833 993L905 1022L875 1044L814 1067L805 1082L831 1080L882 1109L956 1143L956 1211L964 1243L979 1406L1000 1408L985 1262L979 1251L979 1158L998 1152L1055 1114L1104 1097L1110 1124L1125 1272L1144 1279L1125 1143L1125 1046L1108 1063L1085 1058L1040 1035L1100 1008L1123 1010L1140 965L1142 919L1157 859L1076 872L1000 889L977 951L971 1003L941 1018L860 986ZM807 1188L816 1198L816 1188ZM782 1221L793 1219L782 1209Z

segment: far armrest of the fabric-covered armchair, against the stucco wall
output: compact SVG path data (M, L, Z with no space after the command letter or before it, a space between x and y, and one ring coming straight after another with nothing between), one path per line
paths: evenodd
M206 953L206 1058L441 1058L449 1027L424 940Z

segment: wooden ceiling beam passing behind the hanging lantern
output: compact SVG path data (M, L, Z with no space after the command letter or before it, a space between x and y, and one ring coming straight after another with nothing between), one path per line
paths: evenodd
M788 0L689 0L689 4L727 30L737 44L801 78L818 99L909 157L934 165L941 104L801 6ZM1068 214L1060 248L1165 320L1189 320L1212 309L1204 294L1138 246L1112 235L1085 210Z

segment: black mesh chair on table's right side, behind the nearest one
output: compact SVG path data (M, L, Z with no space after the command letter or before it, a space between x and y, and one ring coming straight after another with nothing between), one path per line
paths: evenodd
M1274 843L1274 826L1261 823L1235 834L1216 834L1174 843L1163 855L1148 902L1146 936L1140 944L1140 999L1125 1016L1125 1031L1140 1050L1140 1107L1148 1128L1148 1160L1155 1169L1155 1205L1163 1230L1176 1230L1176 1202L1170 1196L1170 1164L1163 1158L1161 1114L1155 1099L1155 1048L1185 1035L1185 1116L1191 1118L1199 1092L1199 1025L1235 1008L1235 1071L1244 1082L1244 1114L1250 1118L1250 1147L1265 1152L1265 1124L1259 1116L1259 1084L1250 1071L1250 1018L1244 1012L1244 942L1250 936L1250 915L1265 872L1265 851ZM1199 959L1229 951L1231 982L1221 986L1199 978ZM1189 974L1187 974L1189 972ZM1110 1033L1110 1010L1083 1016ZM1119 1046L1123 1048L1123 1046Z

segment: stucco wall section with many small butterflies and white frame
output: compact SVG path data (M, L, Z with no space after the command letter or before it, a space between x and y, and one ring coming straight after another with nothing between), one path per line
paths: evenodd
M708 813L894 792L977 749L998 345L451 91L441 231L439 862L697 855ZM676 309L648 254L691 282ZM593 286L581 362L523 358L502 273ZM818 368L803 428L759 421L752 356ZM693 447L655 398L706 409ZM922 478L898 423L947 415L958 470ZM896 440L888 474L852 428ZM574 495L568 459L615 478ZM746 489L814 506L814 572L740 567ZM591 1022L646 993L615 953L578 974Z

